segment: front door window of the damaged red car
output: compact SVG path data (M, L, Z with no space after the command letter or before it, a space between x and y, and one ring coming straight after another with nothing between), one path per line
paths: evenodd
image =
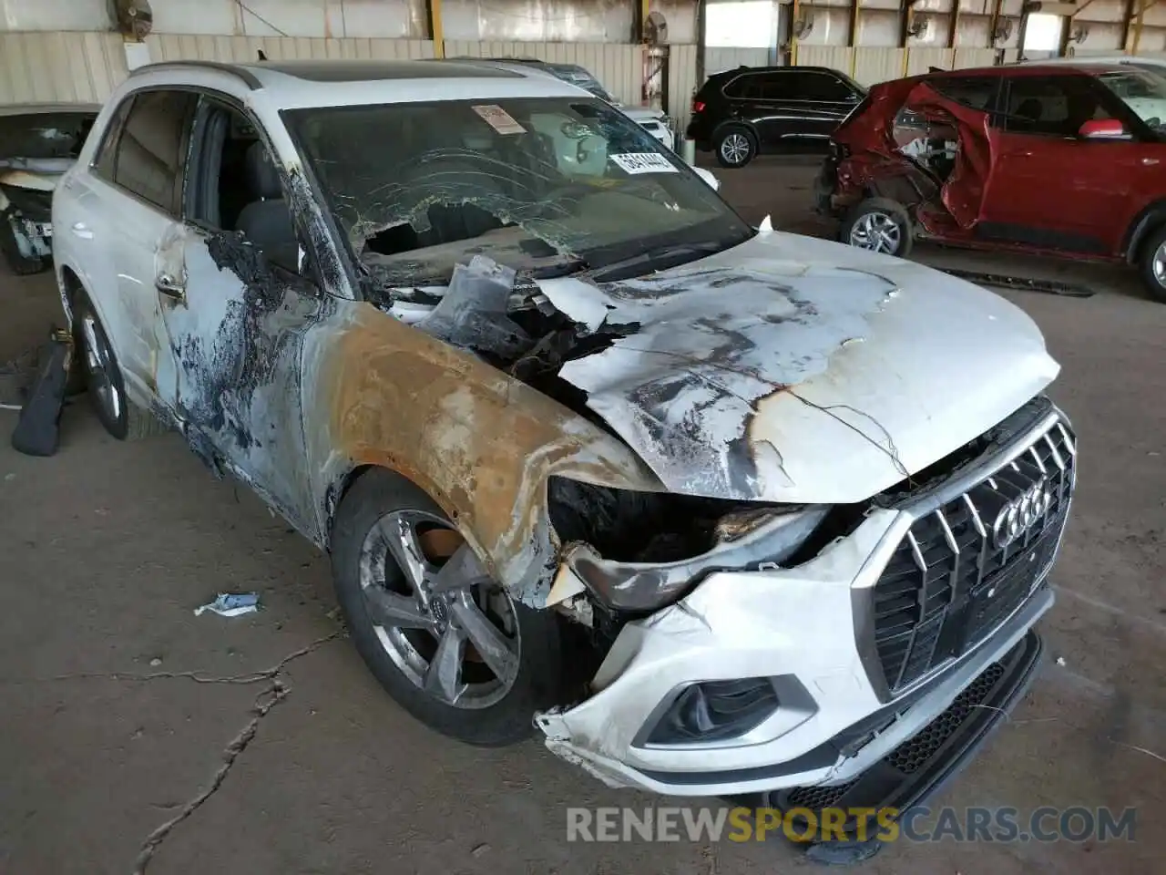
M1086 121L1114 116L1083 76L1014 76L1009 82L1004 128L1012 133L1076 136Z

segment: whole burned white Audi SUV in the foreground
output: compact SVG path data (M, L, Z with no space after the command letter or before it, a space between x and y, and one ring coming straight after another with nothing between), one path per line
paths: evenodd
M328 551L442 733L905 810L1032 674L1075 471L1033 322L746 225L571 85L146 66L52 219L105 426L161 418Z

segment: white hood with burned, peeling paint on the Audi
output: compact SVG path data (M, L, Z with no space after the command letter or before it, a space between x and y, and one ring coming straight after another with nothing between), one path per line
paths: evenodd
M997 295L793 235L645 279L540 286L591 330L634 326L559 376L676 492L861 502L1058 372L1035 324Z

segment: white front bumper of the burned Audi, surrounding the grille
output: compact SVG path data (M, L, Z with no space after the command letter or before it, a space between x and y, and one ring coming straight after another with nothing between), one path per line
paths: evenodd
M1060 455L1051 435L1063 436L1056 444ZM856 780L936 720L1053 604L1045 579L1072 495L1072 436L1059 413L1041 414L1007 444L986 469L964 469L908 505L870 510L854 532L809 562L712 573L676 604L627 623L592 680L591 698L538 715L548 748L609 785L675 796L738 796ZM920 648L941 652L925 628L942 629L939 637L960 631L946 620L941 626L928 621L906 639L906 651L895 650L894 636L884 636L876 648L872 614L887 606L881 587L885 573L899 573L891 562L901 561L900 547L918 548L914 533L936 518L953 542L962 539L965 524L951 513L953 502L971 505L969 496L981 499L977 490L985 482L995 490L1013 469L1033 464L1030 455L1039 464L1038 448L1049 478L1058 471L1048 460L1066 462L1055 512L1048 511L1053 522L1031 544L1025 536L1018 560L1006 569L985 576L982 558L974 566L979 576L960 584L970 594L967 607L946 616L967 612L979 623L976 637L950 659L916 662ZM927 565L934 561L927 541L922 552ZM951 567L953 581L960 568L960 562ZM953 600L954 592L953 583ZM926 587L921 602L930 603ZM887 666L897 673L891 682ZM749 678L770 679L778 706L747 732L716 741L651 743L651 729L677 700L677 691Z

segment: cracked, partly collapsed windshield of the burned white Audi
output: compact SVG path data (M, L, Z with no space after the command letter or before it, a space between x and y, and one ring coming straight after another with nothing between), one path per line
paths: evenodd
M444 285L484 254L534 278L634 273L746 239L681 160L598 100L525 98L290 111L365 270Z

